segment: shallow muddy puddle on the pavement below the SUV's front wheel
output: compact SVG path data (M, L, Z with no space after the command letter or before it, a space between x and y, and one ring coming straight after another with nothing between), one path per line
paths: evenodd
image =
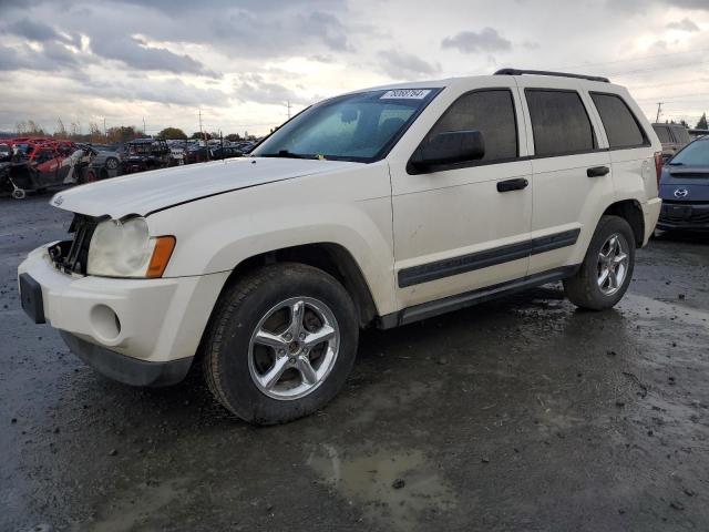
M308 466L325 485L389 530L414 530L456 505L454 492L418 450L341 453L322 446L310 454ZM403 487L395 489L399 480Z

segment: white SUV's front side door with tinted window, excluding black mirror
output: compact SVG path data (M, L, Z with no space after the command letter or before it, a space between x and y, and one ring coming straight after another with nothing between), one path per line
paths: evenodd
M482 160L419 174L410 173L403 160L391 161L394 280L401 307L527 273L532 163L524 157L525 131L517 127L524 124L523 108L513 80L494 83L456 98L422 140L476 130L485 144Z

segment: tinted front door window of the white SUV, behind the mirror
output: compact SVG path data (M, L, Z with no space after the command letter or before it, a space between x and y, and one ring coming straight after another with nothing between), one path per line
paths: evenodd
M517 156L517 124L512 93L506 89L476 91L459 98L429 133L477 130L485 142L483 162Z

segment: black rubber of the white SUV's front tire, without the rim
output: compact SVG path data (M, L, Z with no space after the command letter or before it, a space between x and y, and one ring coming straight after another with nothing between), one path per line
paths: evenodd
M335 317L339 342L331 369L320 383L305 397L282 400L269 397L257 386L256 377L251 375L256 362L250 348L261 319L275 306L291 298L312 298L325 304ZM307 307L305 311L308 311ZM319 410L337 395L354 364L358 337L354 304L333 277L301 264L266 266L228 286L222 294L203 342L204 376L216 399L245 421L284 423ZM315 351L314 348L311 352ZM276 349L273 354L275 366ZM295 360L289 354L285 358Z

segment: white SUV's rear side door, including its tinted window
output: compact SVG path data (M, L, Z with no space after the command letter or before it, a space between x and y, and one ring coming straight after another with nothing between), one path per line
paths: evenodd
M555 80L551 86L548 81L522 76L518 84L533 154L528 273L534 275L580 263L598 222L598 206L613 203L614 188L609 155L579 82Z

